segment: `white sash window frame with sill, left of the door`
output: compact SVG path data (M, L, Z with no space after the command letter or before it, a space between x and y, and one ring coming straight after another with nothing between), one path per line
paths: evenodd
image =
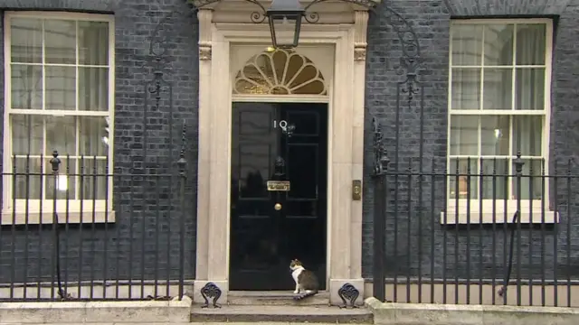
M59 19L73 21L107 22L109 23L109 111L68 111L68 110L32 110L32 109L12 109L12 85L11 85L11 23L13 18L37 18L37 19ZM81 14L64 12L5 12L4 20L4 52L5 52L5 110L4 110L4 156L3 166L5 177L3 181L3 207L2 225L14 224L50 224L53 218L54 200L13 200L12 193L12 127L10 123L11 113L33 112L43 116L103 116L109 117L109 174L112 173L113 153L114 153L114 111L115 111L115 24L114 16L109 14ZM44 55L44 54L43 54ZM44 99L43 99L44 100ZM66 156L59 156L61 161L66 160ZM91 163L90 163L91 165ZM89 167L90 168L90 167ZM76 171L77 173L80 171ZM115 211L112 210L113 202L113 177L108 181L107 200L56 200L56 212L59 223L102 223L114 222ZM81 210L82 205L82 210ZM42 208L42 209L41 209ZM26 213L28 209L28 213Z

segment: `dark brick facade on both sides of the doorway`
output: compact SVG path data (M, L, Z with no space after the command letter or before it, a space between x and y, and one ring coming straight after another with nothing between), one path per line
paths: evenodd
M413 168L420 167L419 157L422 144L422 163L425 169L430 169L434 163L436 170L442 171L445 165L447 150L447 101L448 101L448 56L449 56L449 25L451 17L489 17L489 16L538 16L558 15L556 19L556 36L554 52L553 72L553 116L551 119L551 156L558 161L566 161L567 158L576 159L574 148L579 145L578 125L579 115L574 110L576 102L576 88L579 84L575 81L574 70L579 62L579 51L576 49L576 32L579 31L579 21L576 16L579 12L579 0L518 0L482 1L482 0L390 0L384 5L389 5L397 13L400 13L407 21L411 22L417 33L422 46L422 70L420 79L424 94L424 116L421 118L420 107L400 107L399 137L395 134L396 120L396 93L397 83L403 79L396 73L396 65L401 55L400 44L396 33L386 23L387 12L373 14L369 23L368 31L368 56L366 60L366 109L367 131L365 138L366 167L371 164L371 134L370 114L378 116L384 125L384 135L390 158L393 160L392 167L406 168L409 159L413 158ZM176 153L179 149L180 128L183 120L187 125L186 144L189 178L186 183L186 216L185 216L185 271L186 276L195 276L195 172L196 172L196 132L197 132L197 22L194 15L190 14L188 6L183 0L157 1L151 4L143 0L4 0L0 9L39 9L39 10L69 10L81 12L114 13L116 17L116 134L115 134L115 168L119 172L154 173L159 171L174 170L167 156ZM147 12L152 14L147 14ZM160 16L175 12L172 20L167 23L166 31L171 35L167 42L167 56L170 68L166 70L166 78L174 81L173 89L173 113L168 113L166 98L163 98L162 107L159 111L149 108L147 111L146 129L143 123L143 93L144 80L150 78L150 69L140 68L147 60L148 43L159 22ZM3 34L0 32L0 42ZM0 51L2 48L0 47ZM0 75L3 75L3 59L0 55ZM0 88L4 79L0 78ZM4 94L0 92L0 107L3 107ZM169 132L169 125L171 132ZM421 131L422 130L422 141ZM147 139L144 136L147 135ZM172 138L167 145L166 138ZM398 139L398 140L396 140ZM147 140L147 155L143 152L143 143ZM399 159L398 166L394 162L396 156ZM165 159L164 159L165 158ZM157 169L158 168L158 169ZM374 201L370 188L369 168L365 172L364 188L364 237L363 237L363 274L371 277L372 269L372 216ZM393 179L389 180L393 183ZM394 200L388 201L387 216L387 273L389 276L408 275L432 276L440 278L459 276L484 278L501 277L505 258L506 247L504 231L498 229L476 228L470 233L460 229L443 229L438 225L439 212L443 209L441 188L432 190L428 181L422 187L422 209L419 210L418 188L412 187L409 196L408 182L399 180L398 210L394 210ZM116 183L116 192L119 194L119 204L116 206L118 213L117 222L109 225L109 232L104 231L102 226L96 228L83 228L81 239L77 228L69 230L67 253L62 258L67 261L69 279L79 277L89 279L90 271L95 270L96 277L102 277L103 270L107 270L109 278L140 278L144 275L151 278L155 275L154 269L159 262L160 274L176 278L178 271L177 254L179 225L174 221L169 228L166 222L166 210L170 206L177 206L175 198L176 188L169 190L166 182L154 183L153 186L164 190L160 208L151 206L147 193L152 188L144 187L143 183L135 185L137 192L145 193L132 195L133 204L127 190L127 180ZM175 185L175 181L174 184ZM149 184L150 186L150 184ZM394 190L389 191L390 198L394 197ZM134 190L135 191L135 190ZM122 195L120 194L122 193ZM432 193L434 199L432 200ZM565 189L559 191L561 198L566 198ZM574 199L577 195L574 195ZM172 198L172 199L171 199ZM148 200L147 200L148 199ZM156 201L156 200L154 200ZM407 201L410 201L410 211ZM431 202L434 204L431 205ZM563 202L563 200L560 200ZM576 209L579 200L572 200L570 205ZM148 206L147 206L148 204ZM162 231L159 246L155 243L157 213ZM175 211L175 209L174 209ZM419 213L422 211L422 214ZM176 212L172 218L176 218ZM410 218L408 217L410 215ZM561 251L565 249L566 222L568 216L565 209L561 210L562 223L558 232L548 229L546 231L546 264L547 277L553 276L553 270L562 269L566 265L566 256L559 254L557 258L553 254L554 243L558 244ZM132 224L131 224L131 216ZM422 217L421 217L422 216ZM397 221L394 223L394 219ZM420 225L420 227L419 227ZM50 274L50 252L52 252L52 233L48 229L39 231L32 228L28 232L29 258L42 262L40 273L44 279ZM110 233L114 230L114 235ZM395 231L394 231L395 230ZM576 225L571 228L572 237L575 239L579 229ZM105 233L108 233L105 237ZM397 235L398 253L394 255L394 234ZM171 235L169 235L171 234ZM3 228L0 233L0 281L10 280L9 268L13 260L12 244L16 245L15 268L17 277L22 276L27 270L24 265L22 247L24 247L24 231L15 229L14 237L11 228ZM533 230L529 237L529 230L523 231L523 259L521 260L524 276L540 276L540 252L535 248L532 253L532 261L529 263L529 238L531 246L540 246L539 232ZM131 239L132 238L132 239ZM443 240L446 238L446 250L443 248ZM508 238L508 237L507 237ZM43 240L41 243L40 240ZM496 239L496 240L493 240ZM455 249L455 241L458 249ZM83 260L80 261L81 243ZM494 246L497 247L493 251ZM132 249L130 245L132 243ZM145 243L145 250L141 250ZM573 243L573 242L572 242ZM106 246L105 246L106 244ZM467 254L469 244L470 256ZM42 247L42 249L39 249ZM109 252L105 258L105 248ZM110 248L113 247L113 248ZM119 248L117 248L119 247ZM166 249L169 248L170 264L167 265ZM577 269L579 261L577 247L573 246L573 255L570 265ZM96 253L91 253L96 251ZM119 252L119 253L116 253ZM443 253L446 252L446 265L443 264ZM141 257L144 254L145 258ZM431 258L431 254L432 258ZM482 258L480 258L482 256ZM129 257L132 265L128 265ZM121 261L119 269L116 268L117 260ZM107 266L105 267L105 261ZM141 262L144 262L141 263ZM492 263L497 263L497 268L492 268ZM394 266L392 266L394 265ZM469 267L467 267L469 265ZM482 274L478 272L482 265ZM445 267L446 266L446 267ZM36 279L36 265L30 268L28 277ZM144 270L142 272L141 270ZM470 271L470 274L469 274ZM565 276L559 272L559 276Z

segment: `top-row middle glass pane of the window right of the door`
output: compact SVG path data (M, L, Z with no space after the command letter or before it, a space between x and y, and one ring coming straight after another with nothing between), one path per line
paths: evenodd
M485 66L513 64L512 24L489 24L485 28Z

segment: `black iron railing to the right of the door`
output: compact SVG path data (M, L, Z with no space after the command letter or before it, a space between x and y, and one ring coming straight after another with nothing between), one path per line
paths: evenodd
M418 159L390 163L379 126L375 134L376 298L579 305L579 174L572 161L531 162L517 153L440 166L433 159L421 171Z

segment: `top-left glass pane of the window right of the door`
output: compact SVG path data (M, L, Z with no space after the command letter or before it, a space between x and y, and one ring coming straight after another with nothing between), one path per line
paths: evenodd
M452 65L480 65L482 60L482 30L479 24L452 26Z

